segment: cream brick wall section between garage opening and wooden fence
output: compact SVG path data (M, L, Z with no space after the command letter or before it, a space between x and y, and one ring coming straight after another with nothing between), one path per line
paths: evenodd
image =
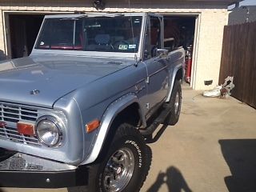
M196 90L211 89L218 84L223 29L227 18L226 10L202 11L198 34L198 57L194 70ZM212 86L205 86L205 80L213 80Z

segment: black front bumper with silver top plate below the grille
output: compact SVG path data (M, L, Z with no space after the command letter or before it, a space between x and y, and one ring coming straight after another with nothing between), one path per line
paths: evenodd
M85 186L88 178L89 168L86 166L70 166L28 154L0 153L0 187Z

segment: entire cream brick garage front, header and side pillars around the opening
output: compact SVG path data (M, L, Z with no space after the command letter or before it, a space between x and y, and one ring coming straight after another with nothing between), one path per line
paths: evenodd
M92 1L91 1L92 2ZM33 11L33 12L73 12L97 11L91 2L85 1L1 1L0 2L0 50L6 53L5 30L3 15L6 11ZM172 3L167 0L107 1L103 12L132 12L146 11L162 14L197 14L198 15L198 42L194 59L194 75L192 86L196 90L211 89L218 83L218 74L222 53L223 28L227 23L226 5L202 4L190 2L186 4ZM213 80L212 86L204 86L204 80Z

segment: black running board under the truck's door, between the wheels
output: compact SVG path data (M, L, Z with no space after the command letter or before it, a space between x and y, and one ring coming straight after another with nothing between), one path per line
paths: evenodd
M156 113L159 113L158 116L148 122L150 126L147 126L146 129L140 130L142 135L150 135L154 133L154 130L156 130L158 126L166 120L167 115L170 113L170 106L163 104L161 109Z

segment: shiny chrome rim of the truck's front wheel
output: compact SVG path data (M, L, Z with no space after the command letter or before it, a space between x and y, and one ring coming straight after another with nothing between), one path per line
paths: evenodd
M122 148L111 155L103 172L106 191L121 191L134 173L134 154L128 148Z

